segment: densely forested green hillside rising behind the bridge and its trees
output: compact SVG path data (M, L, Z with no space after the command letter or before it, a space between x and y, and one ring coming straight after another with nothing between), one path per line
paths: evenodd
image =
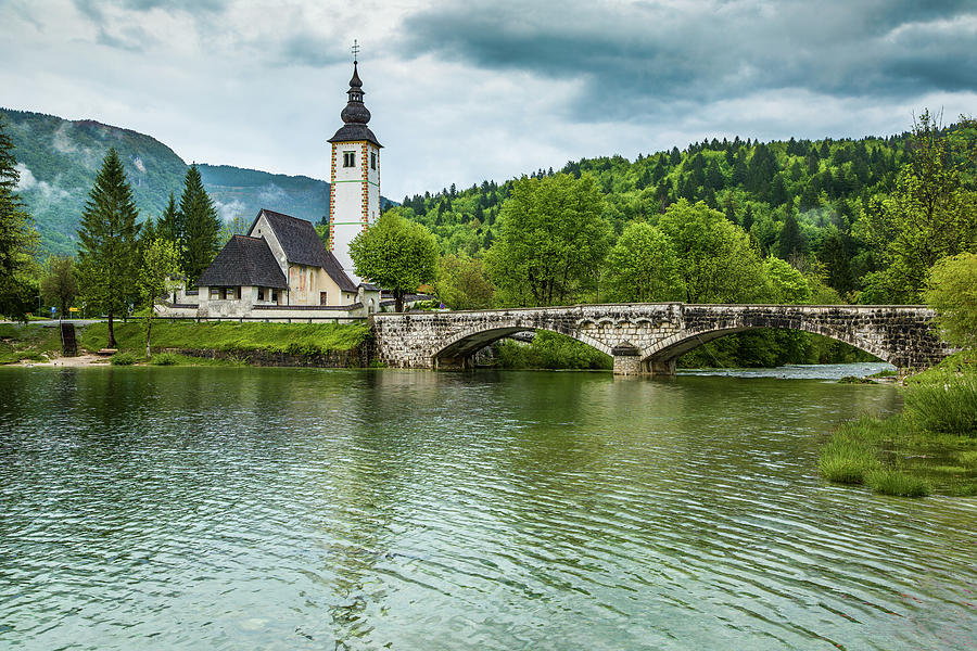
M974 129L943 130L951 131L957 139L975 137ZM595 178L616 235L631 221L656 221L680 199L702 201L741 226L764 257L816 270L850 301L885 302L871 282L879 261L860 217L896 188L910 159L909 141L909 132L859 140L713 139L635 161L584 158L557 171ZM964 181L973 189L973 174ZM443 253L478 256L498 234L496 218L512 183L406 196L402 212L430 228Z

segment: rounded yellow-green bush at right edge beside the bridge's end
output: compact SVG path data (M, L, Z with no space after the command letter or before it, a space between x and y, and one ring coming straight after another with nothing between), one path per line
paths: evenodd
M947 342L977 346L977 254L962 253L937 261L929 271L926 304Z

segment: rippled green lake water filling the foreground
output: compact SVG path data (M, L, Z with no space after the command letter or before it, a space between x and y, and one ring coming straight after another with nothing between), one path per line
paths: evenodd
M977 500L817 476L896 388L746 374L0 368L0 648L975 648Z

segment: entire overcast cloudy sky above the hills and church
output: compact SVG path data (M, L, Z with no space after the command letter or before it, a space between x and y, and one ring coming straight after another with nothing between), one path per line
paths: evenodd
M394 200L703 137L977 113L975 0L0 0L0 105L323 179L357 38Z

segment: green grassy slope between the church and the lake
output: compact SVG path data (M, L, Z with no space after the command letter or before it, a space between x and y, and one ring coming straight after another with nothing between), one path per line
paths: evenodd
M242 354L271 353L293 356L325 355L353 350L370 336L369 326L360 323L196 323L194 321L156 321L153 323L153 350L179 348L219 350ZM119 353L142 360L145 357L145 326L142 322L115 323ZM107 323L93 323L81 330L80 346L87 350L105 347ZM154 355L157 357L160 354ZM166 363L201 363L198 358L167 354ZM156 361L158 363L158 361Z

